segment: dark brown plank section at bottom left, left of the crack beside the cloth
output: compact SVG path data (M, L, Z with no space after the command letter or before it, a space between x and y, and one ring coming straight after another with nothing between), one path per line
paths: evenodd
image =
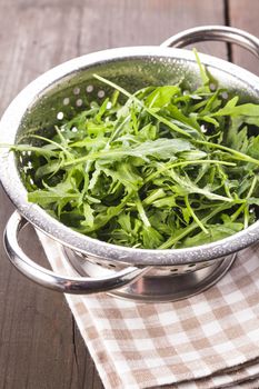
M1 228L12 207L0 193ZM29 253L43 261L32 230L23 233ZM0 247L0 388L70 388L74 376L74 343L71 313L57 293L21 277L4 258ZM68 371L68 375L57 375ZM48 372L48 373L47 373Z

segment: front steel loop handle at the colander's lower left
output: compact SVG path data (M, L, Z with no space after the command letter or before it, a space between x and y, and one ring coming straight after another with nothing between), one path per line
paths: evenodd
M28 221L14 211L10 217L4 233L3 241L6 251L14 267L32 281L52 290L72 295L90 295L121 288L131 283L149 270L147 268L128 267L112 276L106 278L89 277L64 277L32 261L22 250L18 242L20 230Z

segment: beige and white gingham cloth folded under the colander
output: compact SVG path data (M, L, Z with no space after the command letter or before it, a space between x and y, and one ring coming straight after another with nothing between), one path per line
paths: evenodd
M74 275L40 235L56 271ZM259 245L212 288L186 300L135 303L66 296L106 389L259 388Z

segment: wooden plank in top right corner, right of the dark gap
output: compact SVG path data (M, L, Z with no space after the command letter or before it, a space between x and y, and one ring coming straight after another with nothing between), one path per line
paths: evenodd
M229 19L232 27L250 32L259 38L259 1L229 0ZM259 76L259 59L237 46L232 48L233 61Z

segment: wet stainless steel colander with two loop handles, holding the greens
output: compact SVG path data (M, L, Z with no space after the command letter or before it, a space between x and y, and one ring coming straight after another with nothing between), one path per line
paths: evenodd
M72 59L46 72L11 102L0 122L0 143L13 144L28 130L49 128L100 102L111 90L92 77L98 73L129 91L149 84L173 84L183 79L197 88L199 69L190 50L179 49L201 40L221 40L243 46L259 57L259 40L228 27L199 27L169 38L160 47L128 47ZM172 46L178 48L171 48ZM243 101L259 102L259 78L225 60L200 54L202 63ZM17 210L4 231L11 262L33 281L66 293L112 292L137 301L178 300L198 293L219 280L236 252L259 239L259 221L246 230L212 243L170 250L135 249L110 245L66 227L27 200L20 170L29 156L18 161L8 148L0 149L0 179ZM66 259L78 277L63 277L37 265L21 249L20 230L31 223L62 245Z

